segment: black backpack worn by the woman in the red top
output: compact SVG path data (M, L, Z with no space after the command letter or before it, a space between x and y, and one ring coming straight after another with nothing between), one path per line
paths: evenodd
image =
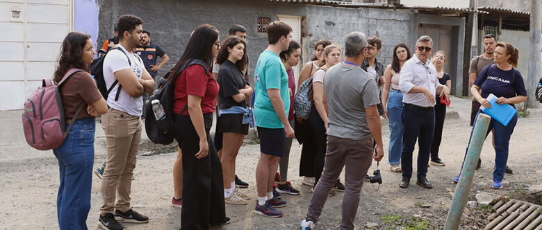
M190 60L183 64L183 66L173 73L170 71L167 73L164 78L169 78L167 82L158 90L154 92L154 94L147 100L147 103L145 103L144 113L145 113L145 131L147 132L147 136L153 143L160 143L163 145L169 145L173 142L175 137L175 122L173 121L173 104L174 104L174 91L175 91L175 81L177 76L181 74L184 69L199 64L200 66L204 67L204 69L207 69L206 64L202 60ZM165 118L161 121L156 121L156 118L154 116L154 112L152 111L152 100L160 100L160 103L164 107L165 112ZM188 103L183 108L183 111L181 111L182 114L186 111L188 108Z

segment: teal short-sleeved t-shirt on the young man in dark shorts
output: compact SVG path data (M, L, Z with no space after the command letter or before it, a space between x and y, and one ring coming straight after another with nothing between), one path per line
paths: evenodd
M288 90L288 73L277 53L265 50L261 53L254 73L255 101L254 118L256 126L268 129L284 128L273 104L269 99L268 89L280 89L284 110L290 110L290 91Z

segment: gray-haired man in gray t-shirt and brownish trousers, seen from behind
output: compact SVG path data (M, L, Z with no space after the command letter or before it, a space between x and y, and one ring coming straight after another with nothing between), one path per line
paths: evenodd
M375 78L359 66L366 58L366 36L352 32L345 37L345 61L329 68L324 77L329 123L325 167L301 227L313 228L325 200L345 166L348 182L343 197L340 229L354 229L361 186L372 159L384 157L379 89ZM375 150L376 143L376 150Z

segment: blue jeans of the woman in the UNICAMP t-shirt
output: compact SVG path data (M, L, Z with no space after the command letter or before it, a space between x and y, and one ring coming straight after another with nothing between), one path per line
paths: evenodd
M473 138L474 128L478 119L478 114L480 113L483 113L482 110L479 110L475 116L473 129L470 130L470 137L468 138L468 145L470 145L470 139ZM512 136L512 133L514 133L516 123L518 123L518 114L514 114L514 117L510 120L508 126L502 125L493 118L491 118L491 121L489 121L486 138L491 130L495 130L493 134L495 136L495 170L493 170L493 181L501 182L502 178L504 178L504 172L506 170L508 161L508 146L510 144L510 136ZM467 157L468 145L467 150L465 151L465 157ZM465 163L465 158L463 158L463 163ZM463 164L461 164L461 170L463 170Z

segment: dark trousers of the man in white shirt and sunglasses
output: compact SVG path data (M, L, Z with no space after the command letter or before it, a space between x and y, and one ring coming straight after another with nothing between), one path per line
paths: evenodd
M401 153L403 177L412 177L412 152L414 151L414 145L416 145L416 139L418 139L417 177L425 177L427 175L431 143L433 142L435 110L433 107L420 109L415 105L404 104L401 121L404 125L403 150Z

